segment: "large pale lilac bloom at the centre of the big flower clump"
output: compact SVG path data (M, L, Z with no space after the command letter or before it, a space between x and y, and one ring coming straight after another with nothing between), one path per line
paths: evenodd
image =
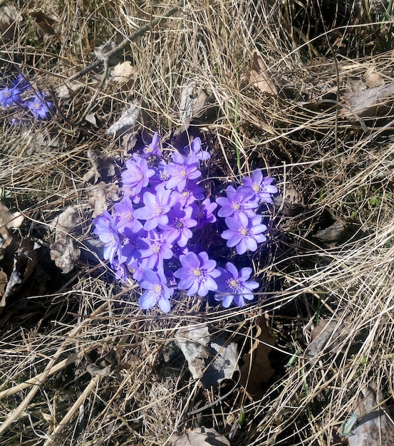
M168 223L167 213L174 205L177 194L164 187L157 187L156 193L145 192L143 202L145 207L140 207L134 211L134 217L145 220L144 229L150 231L157 226Z

